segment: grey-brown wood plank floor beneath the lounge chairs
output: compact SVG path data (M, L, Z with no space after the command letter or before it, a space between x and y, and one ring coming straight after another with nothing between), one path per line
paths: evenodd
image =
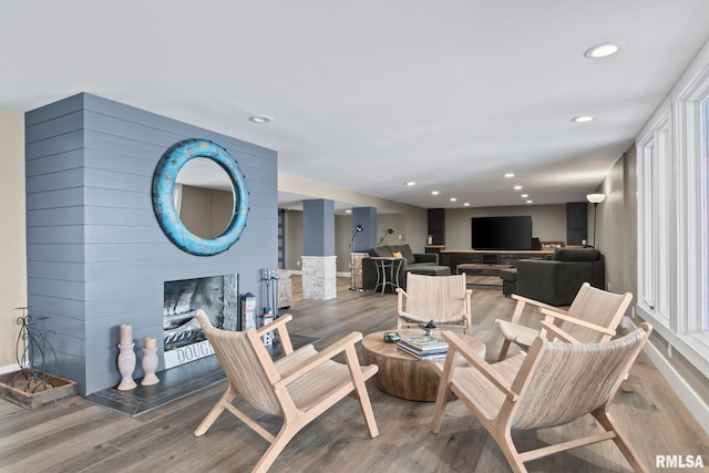
M510 318L513 302L500 288L475 288L473 335L493 360L501 340L495 318ZM395 297L349 290L338 279L337 299L302 300L294 278L292 333L317 336L323 347L352 330L369 333L394 327ZM361 356L361 352L360 352ZM193 435L218 400L224 383L138 418L115 413L80 397L27 411L0 400L1 472L247 472L266 442L228 413L202 438ZM507 472L502 452L460 403L451 401L441 433L429 422L433 403L392 398L368 383L380 436L369 439L353 399L345 399L306 426L278 457L273 472ZM238 401L237 401L238 403ZM243 405L239 403L239 405ZM259 415L276 432L277 418ZM709 438L643 353L624 382L612 413L651 471L656 454L702 455L709 465ZM522 449L594 432L588 417L563 428L517 432ZM612 442L572 450L527 463L531 472L627 472ZM669 471L669 470L668 470Z

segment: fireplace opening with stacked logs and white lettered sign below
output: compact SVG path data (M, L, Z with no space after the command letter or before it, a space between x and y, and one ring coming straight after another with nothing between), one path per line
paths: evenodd
M215 327L238 327L238 275L165 281L163 295L166 369L214 353L194 318L197 309L204 310Z

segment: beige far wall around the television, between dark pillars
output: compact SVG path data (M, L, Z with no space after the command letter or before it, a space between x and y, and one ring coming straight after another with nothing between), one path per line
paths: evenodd
M471 249L472 217L532 216L532 234L543 241L566 241L566 205L521 205L445 210L445 249Z

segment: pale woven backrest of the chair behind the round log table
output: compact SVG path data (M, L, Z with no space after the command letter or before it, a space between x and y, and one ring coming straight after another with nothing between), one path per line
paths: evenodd
M465 275L425 276L409 273L405 311L421 320L460 322L466 309L465 288ZM421 317L417 317L419 315Z

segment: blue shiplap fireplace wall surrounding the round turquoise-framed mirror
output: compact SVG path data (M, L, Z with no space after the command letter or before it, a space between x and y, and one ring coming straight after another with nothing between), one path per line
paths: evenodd
M142 376L137 348L162 339L164 281L238 273L239 292L260 292L260 268L277 266L275 151L84 93L28 112L25 126L29 310L55 331L53 371L82 394L119 383L121 323ZM152 207L157 161L188 137L226 147L249 191L240 239L212 257L175 247Z

